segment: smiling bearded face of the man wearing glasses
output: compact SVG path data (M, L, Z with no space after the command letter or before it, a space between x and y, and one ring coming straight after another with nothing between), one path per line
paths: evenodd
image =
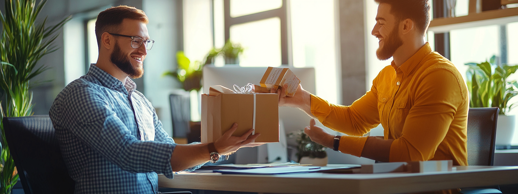
M145 23L138 20L124 19L117 34L136 36L143 40L149 39L148 28ZM143 61L148 54L146 44L134 49L132 39L128 37L113 36L115 45L110 53L110 61L132 79L140 78L144 74Z

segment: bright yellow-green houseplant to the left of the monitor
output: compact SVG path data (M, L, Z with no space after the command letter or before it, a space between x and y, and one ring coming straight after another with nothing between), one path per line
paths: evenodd
M183 51L176 52L176 59L178 63L176 72L166 71L163 75L177 78L185 91L199 91L202 88L203 64L198 61L191 63L191 60L183 54Z

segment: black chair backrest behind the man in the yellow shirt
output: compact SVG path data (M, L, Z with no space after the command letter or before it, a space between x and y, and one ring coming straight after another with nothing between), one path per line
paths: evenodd
M469 108L468 166L493 166L499 112L497 107Z

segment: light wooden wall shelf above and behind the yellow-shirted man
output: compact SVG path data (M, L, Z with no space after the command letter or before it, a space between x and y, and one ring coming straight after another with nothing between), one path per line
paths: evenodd
M511 22L518 22L518 8L498 9L480 13L470 13L468 16L434 19L430 22L428 31L445 33L452 29L498 25Z

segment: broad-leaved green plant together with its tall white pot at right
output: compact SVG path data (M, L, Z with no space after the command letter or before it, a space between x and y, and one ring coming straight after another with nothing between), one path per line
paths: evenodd
M518 69L518 65L496 64L496 56L483 63L468 63L467 85L470 94L469 107L498 107L496 144L510 145L515 127L515 116L507 115L514 107L509 100L518 94L518 83L507 78Z

